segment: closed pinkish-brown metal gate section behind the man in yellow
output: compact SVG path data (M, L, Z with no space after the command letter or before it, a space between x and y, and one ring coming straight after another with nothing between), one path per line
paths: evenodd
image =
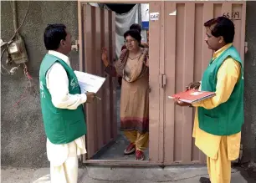
M150 3L151 18L159 13L159 19L150 22L151 160L165 165L205 163L205 156L192 139L194 112L174 106L167 96L201 80L212 54L204 43L203 23L211 18L226 16L233 20L234 46L243 59L245 11L245 2Z

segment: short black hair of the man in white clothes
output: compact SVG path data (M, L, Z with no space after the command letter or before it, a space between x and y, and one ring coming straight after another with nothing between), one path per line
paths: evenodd
M47 50L56 50L59 43L66 39L66 26L61 23L49 24L44 30L44 46Z

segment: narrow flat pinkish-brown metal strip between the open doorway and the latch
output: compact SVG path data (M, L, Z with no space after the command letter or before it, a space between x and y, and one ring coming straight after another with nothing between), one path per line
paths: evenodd
M151 2L151 13L160 13L163 8L161 2ZM149 94L149 160L162 163L163 160L163 130L160 120L160 45L161 45L161 23L159 21L150 22L150 42L149 47L149 85L151 92ZM160 155L161 154L161 155Z

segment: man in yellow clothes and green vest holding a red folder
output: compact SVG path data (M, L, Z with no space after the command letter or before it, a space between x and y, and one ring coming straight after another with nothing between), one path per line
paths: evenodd
M205 41L214 51L202 81L189 84L212 91L216 96L196 104L193 137L195 144L207 155L210 179L201 177L202 183L230 183L231 161L239 155L243 125L243 63L233 47L234 24L224 17L204 23ZM189 106L175 99L180 106Z

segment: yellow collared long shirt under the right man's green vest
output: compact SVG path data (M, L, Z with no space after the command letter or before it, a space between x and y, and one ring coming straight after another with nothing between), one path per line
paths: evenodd
M229 43L213 53L213 62L216 58L218 58L218 56L220 56L221 53L223 53L223 51L231 46L232 43ZM219 104L226 102L232 94L235 84L238 82L239 76L241 74L240 70L241 66L236 60L233 58L226 58L222 66L218 69L216 96L212 97L211 99L202 100L196 104L193 104L193 106L203 107L205 109L213 109ZM195 144L200 150L202 150L204 154L212 159L218 159L220 140L223 136L211 135L199 128L197 109L192 136L195 138ZM238 158L240 141L241 132L235 135L227 136L228 160L236 160Z

